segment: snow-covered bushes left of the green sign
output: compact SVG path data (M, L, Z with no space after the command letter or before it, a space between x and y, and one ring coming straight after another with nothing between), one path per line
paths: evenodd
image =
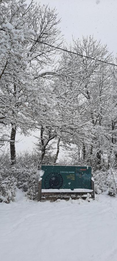
M15 200L15 189L23 191L31 188L30 180L36 173L36 157L34 153L18 155L16 164L11 168L9 152L0 155L0 201L9 203ZM35 185L36 186L36 185ZM38 186L38 183L37 183ZM34 190L34 186L33 189Z

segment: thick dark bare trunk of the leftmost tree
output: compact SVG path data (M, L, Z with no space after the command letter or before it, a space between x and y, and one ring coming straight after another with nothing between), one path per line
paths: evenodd
M13 166L16 163L15 136L16 136L16 126L12 127L11 130L10 139L14 141L14 142L10 142L11 166Z

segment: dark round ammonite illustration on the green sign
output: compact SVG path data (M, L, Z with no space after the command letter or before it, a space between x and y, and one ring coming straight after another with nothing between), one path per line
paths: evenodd
M52 172L44 180L46 189L60 189L63 184L63 178L59 173Z

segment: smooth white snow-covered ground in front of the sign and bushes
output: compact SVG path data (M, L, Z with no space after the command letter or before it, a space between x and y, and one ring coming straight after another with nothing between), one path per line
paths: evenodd
M0 261L117 261L117 198L34 202L17 190L0 203Z

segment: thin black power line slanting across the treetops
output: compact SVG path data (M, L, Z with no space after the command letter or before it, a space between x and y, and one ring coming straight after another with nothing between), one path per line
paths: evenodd
M94 60L94 61L100 61L100 62L105 63L105 64L110 64L110 65L117 66L116 64L108 63L108 62L105 62L105 61L102 61L102 60L99 60L99 59L95 59L95 58L92 58L92 57L89 57L89 56L86 56L86 55L81 55L81 54L79 54L79 53L77 53L77 52L68 51L68 50L65 50L65 49L63 49L63 48L56 47L56 46L53 46L53 45L50 45L50 44L46 44L46 43L43 43L43 42L40 42L40 41L37 41L37 40L34 40L34 39L31 39L31 40L32 40L32 41L35 41L35 42L37 42L37 43L40 43L40 44L48 45L48 46L50 46L50 47L53 47L53 48L56 48L56 49L59 49L59 50L65 51L65 52L69 52L69 53L76 54L76 55L81 56L81 57L89 58L89 59Z

